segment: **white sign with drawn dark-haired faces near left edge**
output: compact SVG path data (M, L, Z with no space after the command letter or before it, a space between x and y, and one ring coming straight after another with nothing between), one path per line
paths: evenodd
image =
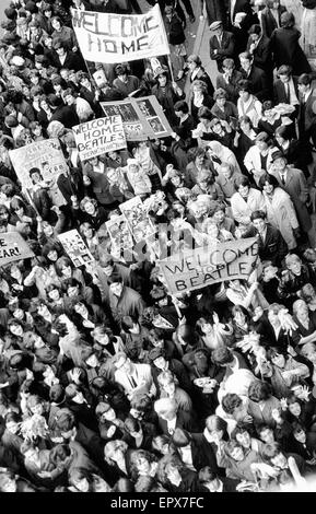
M49 183L67 173L68 166L58 139L45 139L9 151L10 160L15 173L24 188L32 189L34 184L30 177L30 170L37 167L43 180Z

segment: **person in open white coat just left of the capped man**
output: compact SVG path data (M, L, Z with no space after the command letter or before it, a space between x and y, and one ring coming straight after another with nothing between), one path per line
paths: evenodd
M272 153L277 148L272 147L267 132L259 132L255 139L255 144L249 148L245 155L244 164L254 176L255 183L259 185L260 177L272 164Z

